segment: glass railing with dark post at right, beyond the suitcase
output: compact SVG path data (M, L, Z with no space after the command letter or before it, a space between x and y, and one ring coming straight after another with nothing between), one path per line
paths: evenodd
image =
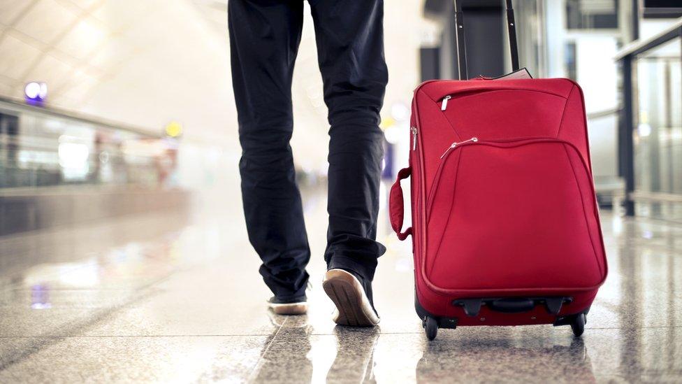
M623 76L618 171L625 180L623 208L629 216L636 213L635 202L681 201L682 159L676 157L682 150L682 137L677 137L682 136L682 100L681 87L674 87L682 72L674 71L682 59L681 48L682 18L655 36L625 45L615 57ZM657 71L662 71L663 80ZM661 154L668 161L660 161Z

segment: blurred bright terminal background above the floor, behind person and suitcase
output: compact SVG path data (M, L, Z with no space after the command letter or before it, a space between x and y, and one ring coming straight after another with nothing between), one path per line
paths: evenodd
M680 38L621 51L679 35L675 3L515 1L522 66L583 87L602 206L667 220L682 220ZM501 2L465 10L470 76L506 73ZM306 17L292 145L301 183L324 185L328 124ZM453 25L450 1L386 6L388 179L407 162L412 90L455 76ZM0 235L191 206L212 190L240 206L229 67L226 1L1 0Z

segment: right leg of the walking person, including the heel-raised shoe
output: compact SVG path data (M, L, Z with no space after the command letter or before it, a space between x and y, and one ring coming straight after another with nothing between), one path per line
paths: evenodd
M315 22L319 66L324 81L324 100L329 108L329 229L325 260L326 284L340 310L340 324L373 325L376 313L360 321L350 319L366 310L363 303L338 302L340 289L362 286L372 304L371 281L377 258L386 248L376 241L379 183L384 157L384 134L379 111L388 81L384 62L383 0L310 0ZM345 281L345 283L343 281ZM327 281L327 280L326 280ZM350 301L356 301L351 297ZM357 305L355 305L357 304ZM367 304L367 303L364 303ZM349 307L350 306L350 307ZM346 312L344 313L344 308ZM363 308L360 308L363 307ZM372 312L373 309L371 309ZM360 313L359 315L363 315ZM345 318L349 317L349 318ZM375 318L376 317L376 318Z

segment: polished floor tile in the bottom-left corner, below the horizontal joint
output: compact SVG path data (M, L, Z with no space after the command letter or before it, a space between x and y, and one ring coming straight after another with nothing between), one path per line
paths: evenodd
M74 337L10 339L17 348L0 363L10 383L242 383L268 336ZM7 343L8 341L3 341Z

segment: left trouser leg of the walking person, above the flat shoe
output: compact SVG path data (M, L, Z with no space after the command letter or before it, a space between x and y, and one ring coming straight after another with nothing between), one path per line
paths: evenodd
M275 298L305 301L310 248L289 145L303 2L230 0L228 25L249 241Z

